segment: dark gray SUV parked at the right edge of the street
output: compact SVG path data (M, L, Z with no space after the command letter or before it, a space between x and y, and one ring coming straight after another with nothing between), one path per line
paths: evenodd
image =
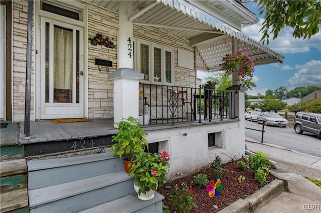
M321 139L321 114L311 112L296 112L293 128L297 134L307 131L316 134Z

